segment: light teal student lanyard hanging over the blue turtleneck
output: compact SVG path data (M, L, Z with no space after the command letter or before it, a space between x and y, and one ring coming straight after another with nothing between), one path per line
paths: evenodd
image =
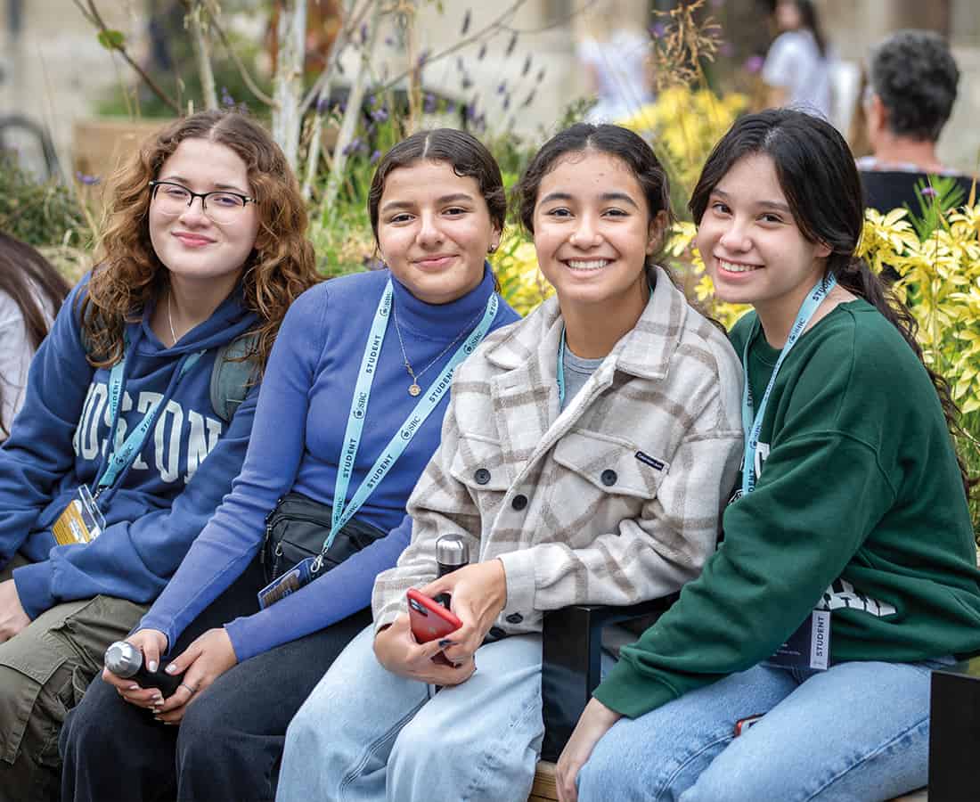
M365 346L365 354L361 360L361 374L358 376L357 384L354 387L354 398L351 400L351 412L347 420L347 429L344 431L344 448L340 454L340 465L337 469L337 481L333 490L333 512L330 520L330 533L323 541L323 551L325 554L333 544L333 538L337 536L347 522L349 522L358 510L368 500L374 488L380 484L381 479L387 476L392 466L402 456L402 452L408 448L412 438L415 437L419 428L425 423L425 419L432 414L432 410L438 406L439 401L449 390L453 381L453 372L457 366L471 354L476 346L480 344L490 325L497 316L497 293L491 293L487 300L486 310L483 317L476 327L466 337L463 344L456 350L450 358L442 373L435 378L425 391L425 394L418 400L415 409L405 419L405 423L399 427L398 431L388 441L381 455L370 467L367 476L361 482L361 486L354 492L350 502L344 506L347 498L347 488L354 474L354 460L358 455L358 448L361 446L361 434L365 426L365 416L368 412L368 399L370 398L371 384L377 372L378 360L381 356L381 344L384 342L384 334L388 328L388 319L391 315L391 304L394 297L394 288L391 279L384 288L384 294L378 302L377 311L374 313L374 322L371 324L368 334L368 344Z

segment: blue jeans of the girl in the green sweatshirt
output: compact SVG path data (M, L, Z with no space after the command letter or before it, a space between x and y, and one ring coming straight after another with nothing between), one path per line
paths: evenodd
M592 800L872 802L926 784L926 663L757 666L621 719L578 776ZM764 714L734 737L740 719Z

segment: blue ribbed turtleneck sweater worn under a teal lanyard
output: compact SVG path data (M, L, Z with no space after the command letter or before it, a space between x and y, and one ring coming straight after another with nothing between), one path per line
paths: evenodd
M272 348L242 473L140 627L163 631L173 644L255 557L266 517L286 493L296 491L333 505L354 387L389 276L385 270L335 278L292 305ZM479 322L494 291L493 276L485 270L476 289L442 305L419 301L397 279L393 284L406 355L417 374L424 370L419 377L424 389ZM501 302L491 330L516 320L514 310ZM408 392L412 380L404 362L392 321L381 347L348 498L417 403ZM405 505L439 444L448 404L447 393L357 514L383 531L398 531L261 613L229 624L238 660L368 605L374 576L393 566L408 543L411 521L403 522Z

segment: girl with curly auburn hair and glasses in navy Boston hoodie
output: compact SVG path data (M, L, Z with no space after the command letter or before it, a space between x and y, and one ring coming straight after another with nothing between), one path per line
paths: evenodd
M172 214L149 186L162 179L256 201L221 223L200 204ZM272 341L317 281L296 180L241 115L152 136L115 177L108 213L0 451L4 800L58 796L67 709L231 489ZM238 404L212 392L229 366Z

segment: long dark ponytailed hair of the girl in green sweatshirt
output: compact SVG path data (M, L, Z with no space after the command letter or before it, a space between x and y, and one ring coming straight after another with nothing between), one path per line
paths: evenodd
M950 385L922 358L915 339L918 325L908 307L855 257L864 226L864 204L854 155L837 128L793 109L769 109L737 121L714 146L691 195L694 222L708 209L711 191L736 162L764 154L775 165L776 178L800 232L810 242L830 247L826 272L847 290L873 305L905 338L932 379L951 433L959 434L959 409ZM959 455L959 473L967 496L970 479Z

